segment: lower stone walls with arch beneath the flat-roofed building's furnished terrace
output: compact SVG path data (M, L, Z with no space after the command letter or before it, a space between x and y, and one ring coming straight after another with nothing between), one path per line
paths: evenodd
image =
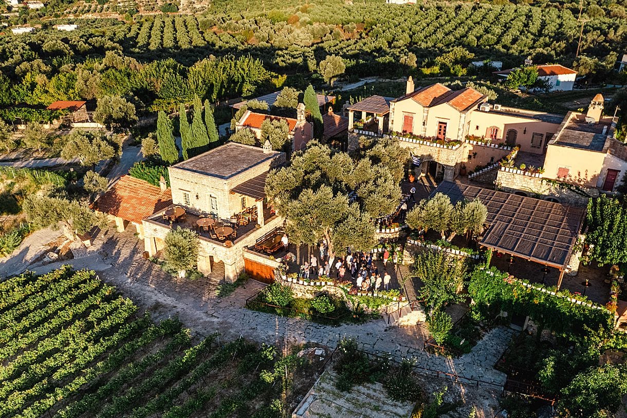
M198 271L208 274L211 272L211 265L214 262L222 261L224 262L224 279L228 282L234 282L238 274L244 270L244 247L255 245L258 238L282 225L283 218L274 217L263 227L255 228L238 237L231 247L225 247L223 243L210 238L199 237ZM170 232L169 226L144 219L144 246L151 257L163 249L164 239L168 232Z

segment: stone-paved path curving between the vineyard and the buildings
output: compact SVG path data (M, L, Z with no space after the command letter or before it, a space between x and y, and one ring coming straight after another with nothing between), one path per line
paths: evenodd
M251 281L229 297L215 296L218 278L223 277L222 265L214 265L208 278L189 281L175 279L162 271L159 265L141 257L143 245L134 235L133 227L123 233L111 228L97 238L95 244L70 260L76 269L95 269L100 278L130 297L138 306L152 313L153 318L178 316L199 335L219 331L224 338L240 335L251 340L289 345L313 341L335 348L340 338L357 337L364 350L392 356L396 360L413 357L417 367L455 373L468 379L503 385L505 375L493 369L507 347L512 331L496 328L473 349L472 353L451 359L423 351L428 333L424 324L403 328L388 328L384 321L366 324L325 326L300 318L284 318L273 314L250 311L244 307L246 297L253 296L263 285ZM54 263L37 267L43 273L60 267ZM0 262L0 269L3 265ZM487 389L495 388L486 385Z

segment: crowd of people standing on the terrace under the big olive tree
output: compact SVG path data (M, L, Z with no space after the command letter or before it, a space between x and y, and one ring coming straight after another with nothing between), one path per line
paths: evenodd
M362 292L375 292L389 290L392 277L387 272L387 263L390 253L386 249L382 253L384 270L379 271L372 253L362 251L347 252L345 257L332 259L329 255L329 247L323 240L319 246L319 257L312 253L308 260L300 265L298 274L302 279L327 276L335 277L340 281L355 281L357 290Z

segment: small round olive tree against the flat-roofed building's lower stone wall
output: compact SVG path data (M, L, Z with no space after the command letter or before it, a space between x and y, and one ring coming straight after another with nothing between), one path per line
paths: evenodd
M198 233L191 229L177 227L167 233L163 256L167 265L185 277L187 271L198 264Z

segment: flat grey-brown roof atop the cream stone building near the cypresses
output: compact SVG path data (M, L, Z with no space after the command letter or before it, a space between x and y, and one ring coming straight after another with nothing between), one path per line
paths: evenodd
M227 179L273 159L279 154L281 154L280 151L264 153L260 147L227 142L223 146L174 164L172 168Z

